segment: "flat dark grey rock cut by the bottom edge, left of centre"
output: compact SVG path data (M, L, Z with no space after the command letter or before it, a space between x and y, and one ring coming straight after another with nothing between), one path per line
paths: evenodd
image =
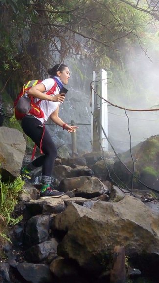
M21 276L30 283L50 283L53 282L52 274L48 265L19 263L17 270Z

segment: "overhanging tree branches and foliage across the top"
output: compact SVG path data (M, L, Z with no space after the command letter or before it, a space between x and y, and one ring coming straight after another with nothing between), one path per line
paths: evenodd
M44 77L55 61L72 55L90 59L94 66L122 67L126 49L130 56L136 45L144 50L141 38L154 14L140 2L135 7L120 0L0 0L4 87L14 89L14 98L22 81Z

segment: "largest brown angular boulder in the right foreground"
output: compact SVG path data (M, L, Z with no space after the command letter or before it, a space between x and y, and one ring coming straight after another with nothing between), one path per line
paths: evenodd
M66 223L67 209L71 211L73 206L75 225ZM128 256L154 253L159 262L159 213L131 196L117 203L97 202L91 210L85 210L71 204L60 215L60 223L68 232L58 245L59 256L75 259L91 272L101 272L102 260L108 258L116 245L123 245Z

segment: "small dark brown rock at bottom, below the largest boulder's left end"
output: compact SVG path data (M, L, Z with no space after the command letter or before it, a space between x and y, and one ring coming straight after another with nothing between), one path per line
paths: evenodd
M57 257L50 264L51 272L57 277L74 276L78 274L77 264L73 260Z

